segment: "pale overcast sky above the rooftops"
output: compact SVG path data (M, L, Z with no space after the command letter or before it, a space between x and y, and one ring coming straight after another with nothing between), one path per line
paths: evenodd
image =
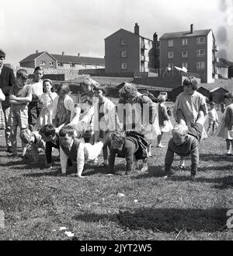
M36 50L103 58L104 38L134 23L151 39L212 29L233 61L233 0L0 0L0 48L15 66Z

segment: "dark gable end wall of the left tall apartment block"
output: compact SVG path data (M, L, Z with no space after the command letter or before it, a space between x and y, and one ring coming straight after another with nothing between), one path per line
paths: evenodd
M127 45L121 45L120 40L126 39ZM121 57L121 51L127 51L127 57ZM138 72L140 71L140 37L126 30L119 30L105 40L106 73ZM122 69L121 63L127 63Z

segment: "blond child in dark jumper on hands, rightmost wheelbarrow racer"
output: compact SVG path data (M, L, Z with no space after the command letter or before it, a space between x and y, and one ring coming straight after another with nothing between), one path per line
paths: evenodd
M196 170L199 164L199 149L203 132L205 117L203 110L200 110L197 120L193 127L188 128L185 121L181 121L172 130L172 139L169 140L169 146L165 155L165 174L166 177L172 176L172 162L174 153L179 156L191 156L191 176L190 180L195 181Z

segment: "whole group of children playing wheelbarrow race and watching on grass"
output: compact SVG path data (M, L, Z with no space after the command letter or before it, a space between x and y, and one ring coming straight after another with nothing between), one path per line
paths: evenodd
M100 167L109 167L114 173L114 161L116 156L124 157L127 161L127 171L137 167L137 160L145 160L151 156L151 141L147 133L135 131L118 131L120 126L116 114L116 105L106 98L106 88L92 79L85 79L82 83L84 93L81 102L75 107L69 96L68 85L61 85L54 92L50 79L41 80L43 69L34 70L32 84L27 84L28 74L25 69L16 72L16 84L11 86L9 102L11 104L9 123L11 130L12 156L17 156L17 127L19 126L20 139L22 139L22 157L26 157L26 149L30 146L33 160L39 161L40 150L45 151L46 165L52 166L53 148L58 149L61 161L61 174L66 174L67 166L77 162L77 176L82 176L84 163L97 163L98 156L103 150L103 163ZM130 88L130 86L128 86ZM165 107L165 95L158 96L158 103L152 103L148 96L130 96L125 90L126 101L133 104L134 100L140 103L148 103L150 114L153 107L156 109L153 121L159 126L156 130L158 147L162 145L164 132L172 130L172 139L165 154L165 174L172 176L172 161L174 153L180 156L180 167L184 169L184 157L191 156L191 180L195 180L199 163L198 142L203 138L203 124L209 116L210 129L216 135L226 139L227 155L231 155L233 148L233 96L231 93L224 95L223 118L218 125L217 111L214 102L210 102L210 110L202 94L197 93L197 82L193 77L183 81L183 93L176 99L173 115L177 122L173 128ZM131 90L132 91L132 90ZM123 90L121 90L123 92ZM134 93L134 92L133 92ZM125 100L124 99L124 100ZM0 102L5 100L5 95L0 89ZM122 101L123 102L123 101ZM153 105L154 104L154 105ZM155 107L156 104L156 107ZM96 114L96 107L97 112ZM155 118L157 115L157 119ZM151 116L152 117L152 116ZM150 118L151 118L150 117ZM154 125L156 126L156 124ZM82 138L85 142L82 141ZM154 138L154 137L152 137ZM147 163L147 162L146 162Z

